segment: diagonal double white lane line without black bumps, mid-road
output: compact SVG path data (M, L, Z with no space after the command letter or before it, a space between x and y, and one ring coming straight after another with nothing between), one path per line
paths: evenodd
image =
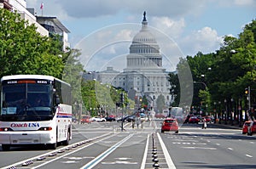
M104 151L101 155L98 155L94 160L90 161L86 165L82 166L80 169L90 169L96 166L100 161L102 161L104 158L106 158L108 155L110 155L115 149L119 148L121 144L124 144L128 139L130 139L134 134L130 134L119 143L114 144L111 148Z

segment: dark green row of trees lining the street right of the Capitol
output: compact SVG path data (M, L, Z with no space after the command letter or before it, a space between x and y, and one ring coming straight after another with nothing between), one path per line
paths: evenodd
M236 106L242 104L244 108L247 107L245 88L251 87L252 91L256 89L255 37L256 20L252 20L238 37L224 37L224 45L215 53L198 52L195 56L186 57L194 81L192 105L201 107L205 103L208 111L213 111L216 104L224 106L224 103L231 109L233 102ZM177 70L183 61L180 59ZM170 93L175 97L174 104L178 104L179 83L175 74L170 74L170 82ZM256 103L256 94L253 92L250 101Z

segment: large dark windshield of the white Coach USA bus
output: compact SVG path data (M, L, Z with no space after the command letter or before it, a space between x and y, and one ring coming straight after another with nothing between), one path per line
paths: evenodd
M1 121L49 121L53 118L50 84L3 85Z

